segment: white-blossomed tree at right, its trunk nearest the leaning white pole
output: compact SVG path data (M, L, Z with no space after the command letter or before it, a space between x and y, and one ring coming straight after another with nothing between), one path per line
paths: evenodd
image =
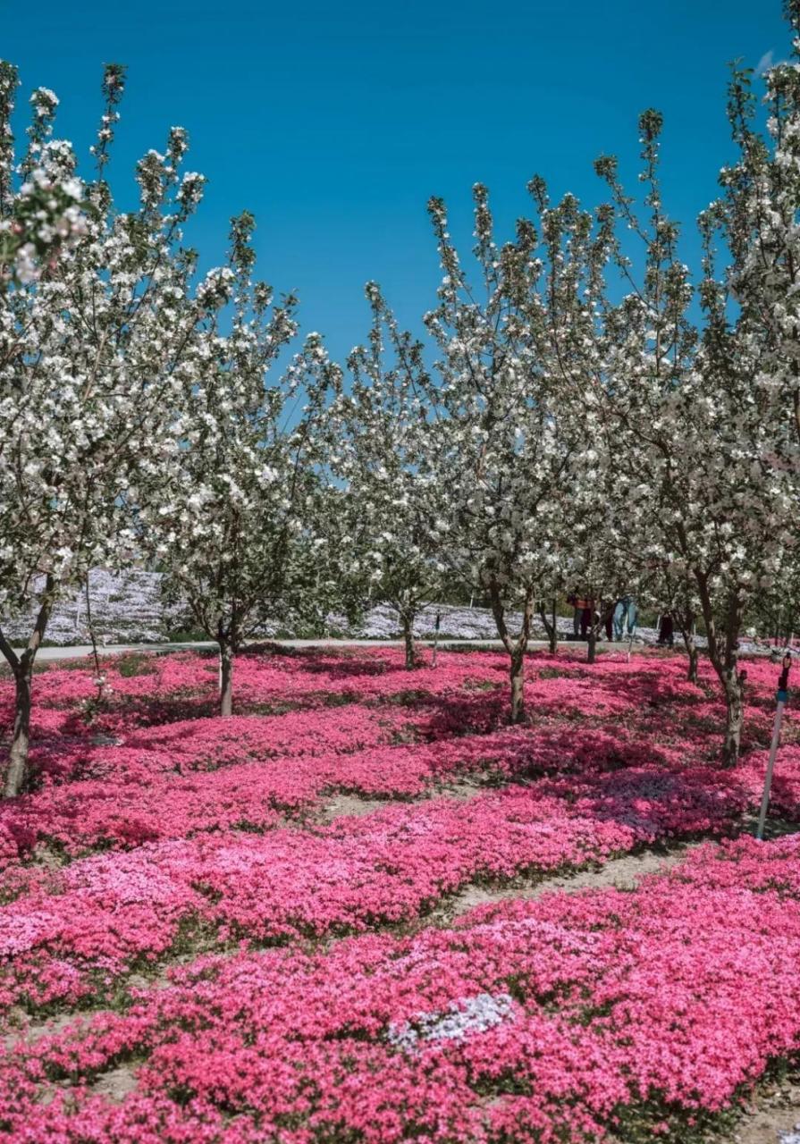
M740 81L735 77L731 122ZM755 173L747 149L722 172L734 188L700 219L705 244L699 286L702 324L692 320L689 270L678 259L678 228L665 215L658 180L662 118L640 117L645 219L618 181L616 162L603 158L617 221L643 246L643 272L616 243L616 262L632 289L605 315L605 386L599 405L607 412L631 495L651 524L649 559L683 581L691 610L696 598L706 628L708 657L724 694L723 760L736 762L744 723L746 673L739 668L745 610L773 585L794 543L797 480L784 455L790 419L774 399L762 319L736 293L736 265L718 278L713 235L718 225L737 246L759 245L738 198ZM742 233L744 227L746 233ZM691 590L690 590L691 588Z

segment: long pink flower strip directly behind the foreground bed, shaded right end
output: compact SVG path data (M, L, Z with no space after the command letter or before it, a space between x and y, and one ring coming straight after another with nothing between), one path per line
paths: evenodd
M637 769L393 807L314 833L200 835L33 868L0 907L0 1007L112 988L188 935L278 943L411 921L475 880L724 832L742 805L714 773Z

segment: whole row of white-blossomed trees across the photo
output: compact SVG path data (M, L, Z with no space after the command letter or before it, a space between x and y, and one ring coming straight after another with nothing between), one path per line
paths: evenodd
M797 37L800 0L787 16ZM106 69L80 180L53 137L53 93L33 94L15 151L17 80L0 76L0 235L14 236L0 244L0 614L38 607L24 649L0 630L17 697L6 794L26 781L54 602L93 566L143 558L217 641L222 714L236 652L276 615L388 602L412 667L415 615L465 585L490 601L521 721L538 602L579 587L601 619L625 591L668 602L690 674L703 619L732 763L745 612L800 567L797 55L766 77L766 128L750 72L732 71L735 160L699 219L696 277L647 111L636 196L610 157L591 210L533 178L530 217L500 244L475 186L473 271L431 199L443 277L423 336L370 284L369 337L343 368L318 335L298 342L296 300L255 278L249 215L227 264L198 277L183 230L204 180L183 170L183 130L140 161L137 208L114 208L124 78ZM45 202L31 214L32 188Z

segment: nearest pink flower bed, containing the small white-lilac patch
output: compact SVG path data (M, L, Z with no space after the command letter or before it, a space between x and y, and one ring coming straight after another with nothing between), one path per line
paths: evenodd
M706 847L635 892L509 901L325 954L200 959L126 1014L7 1052L6 1130L692 1139L800 1046L799 858L797 840ZM126 1060L137 1089L116 1106L92 1085Z

